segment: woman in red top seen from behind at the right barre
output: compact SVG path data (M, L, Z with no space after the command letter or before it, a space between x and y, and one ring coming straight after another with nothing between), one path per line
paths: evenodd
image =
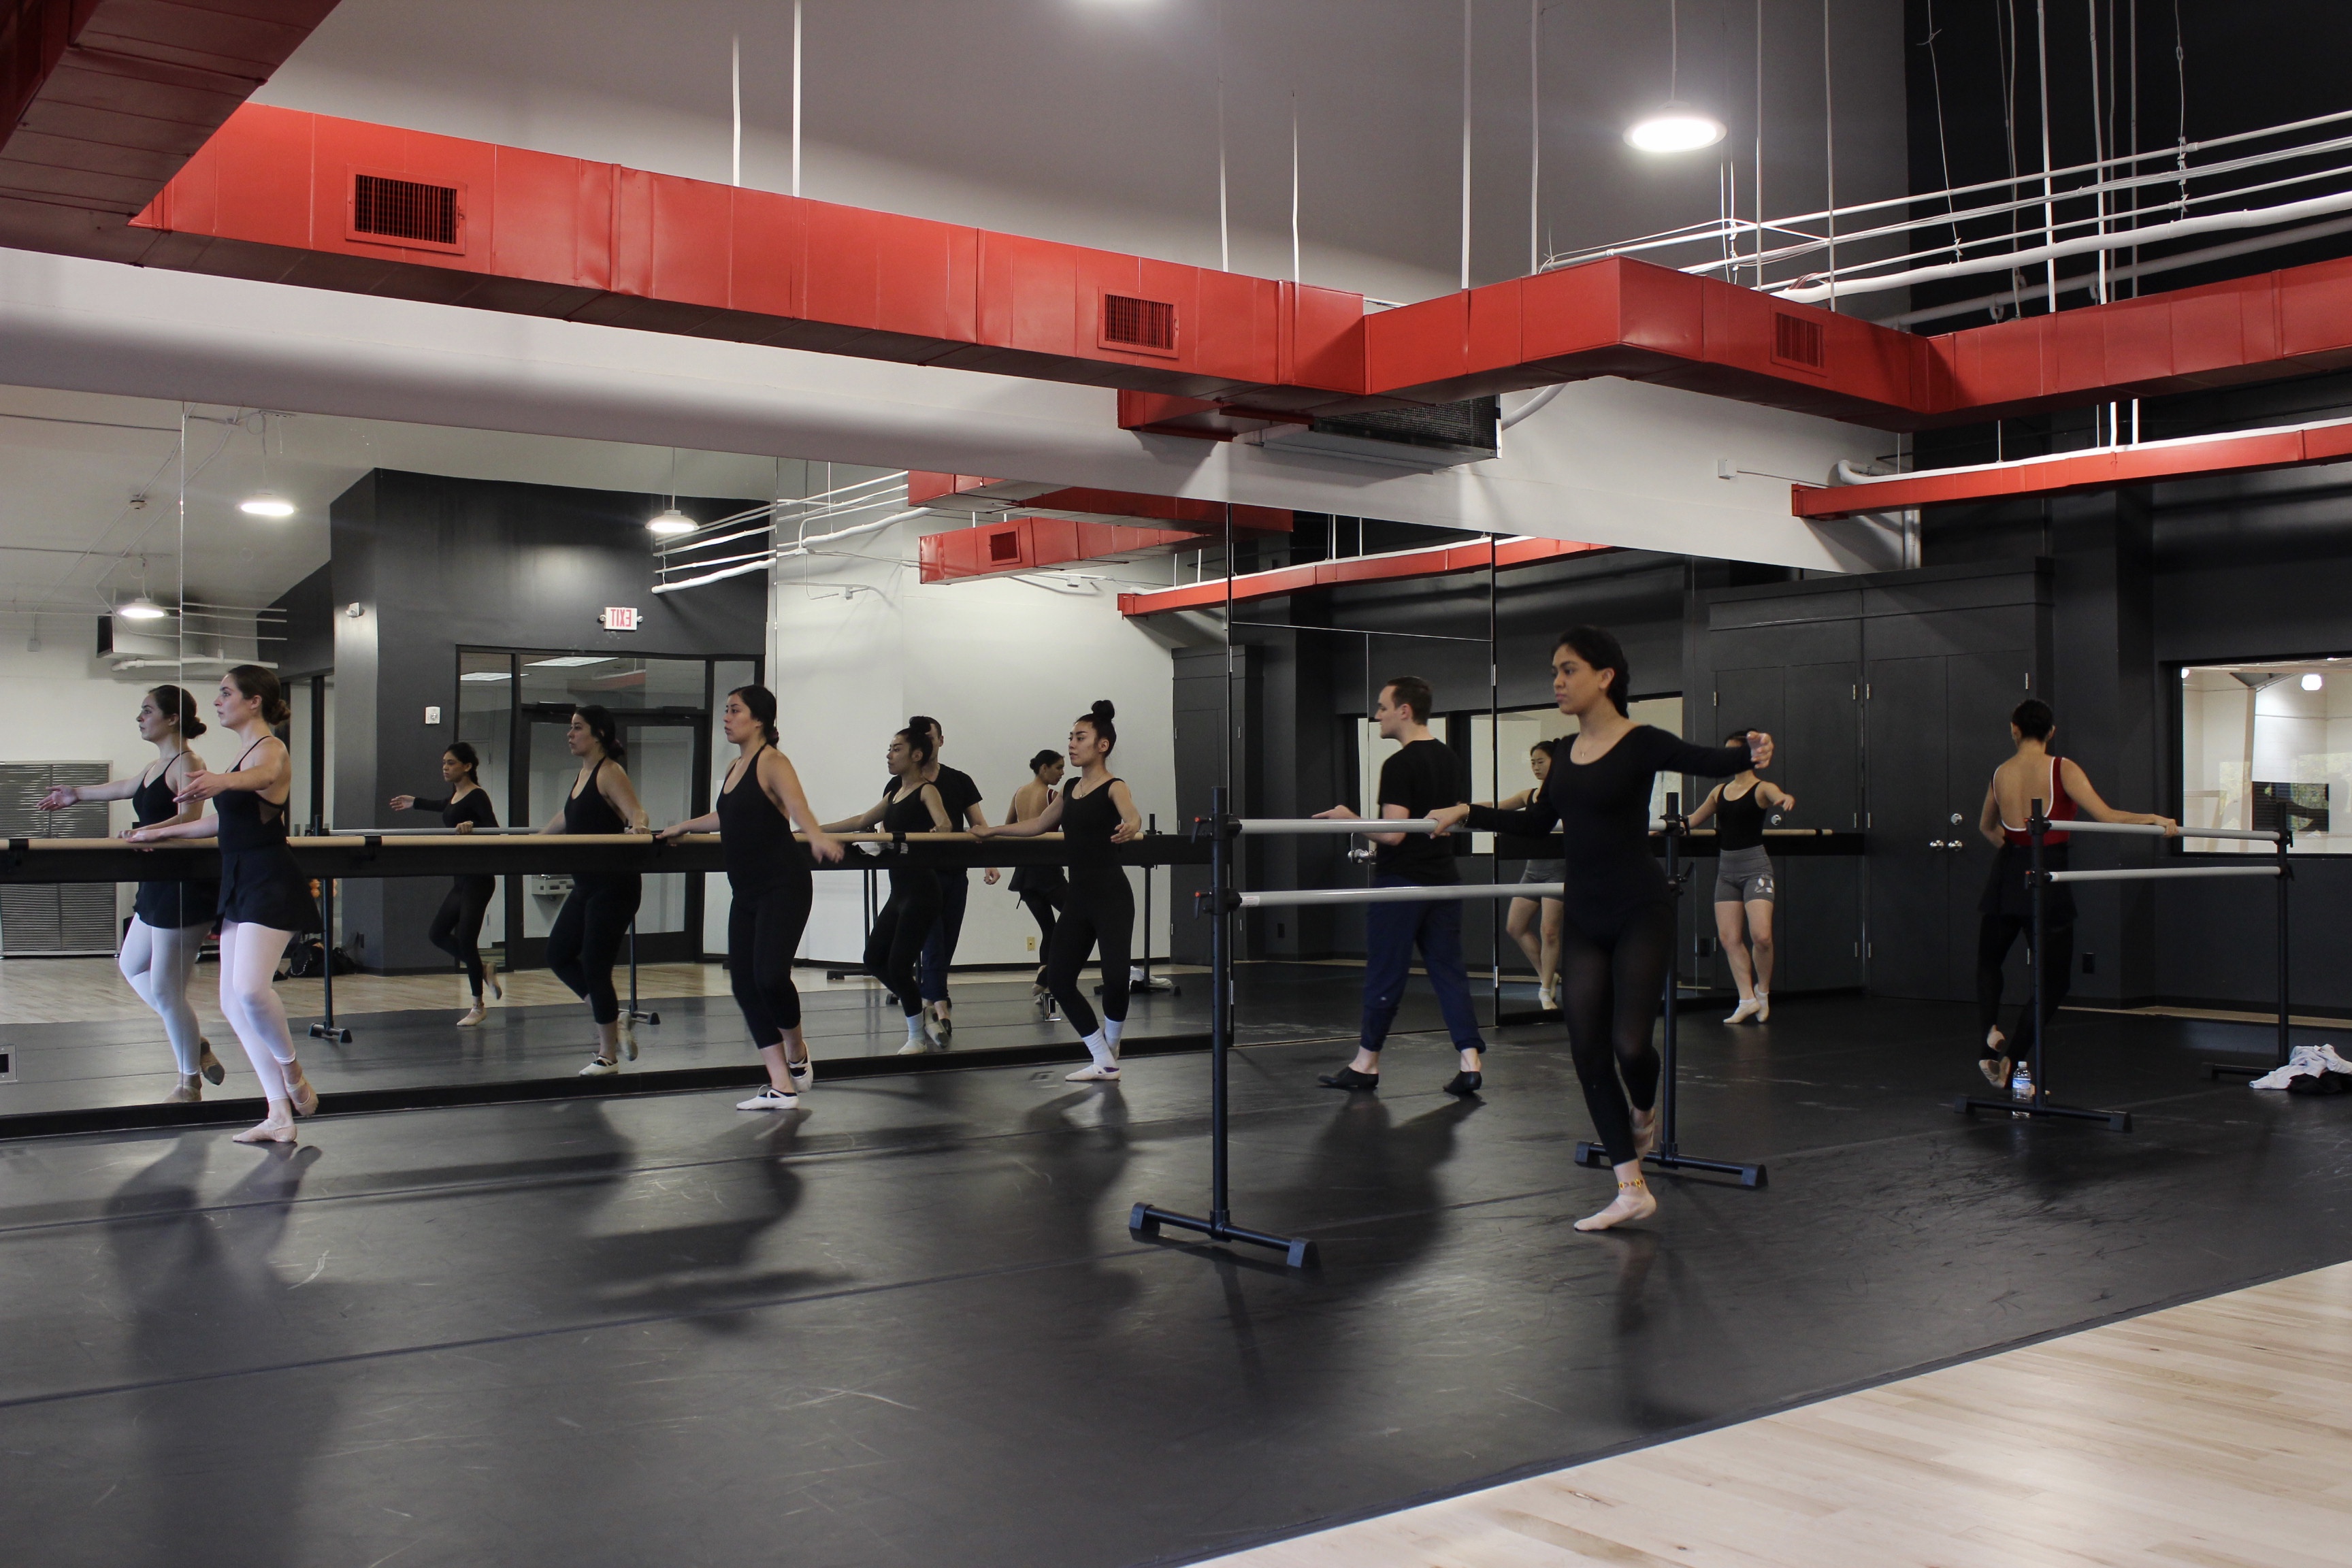
M2016 1046L2002 1034L2002 964L2018 936L2032 931L2034 891L2025 875L2034 865L2032 809L2042 802L2042 816L2051 823L2072 820L2079 809L2093 823L2150 823L2164 827L2166 837L2180 837L2180 823L2150 811L2117 811L2091 788L2091 776L2067 757L2051 752L2051 736L2058 719L2049 703L2025 698L2009 715L2009 738L2018 755L1992 771L1985 790L1985 809L1976 827L1999 853L1992 858L1992 877L1985 879L1985 896L1978 898L1976 924L1976 1023L1985 1032L1985 1056L1976 1067L1994 1088L2009 1088L2016 1060L2034 1048L2032 994L2018 1006ZM2016 827L2011 827L2016 823ZM2067 842L2072 835L2051 830L2042 835L2042 870L2063 872ZM2049 964L2049 980L2042 987L2042 1023L2058 1013L2065 1001L2067 978L2074 971L2074 889L2056 884L2042 893L2042 961Z

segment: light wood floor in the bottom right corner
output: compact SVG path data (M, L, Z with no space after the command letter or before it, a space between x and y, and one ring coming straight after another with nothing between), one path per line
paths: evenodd
M1216 1568L2343 1568L2352 1265Z

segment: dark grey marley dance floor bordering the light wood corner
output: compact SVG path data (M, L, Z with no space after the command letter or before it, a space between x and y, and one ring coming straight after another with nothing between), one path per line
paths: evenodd
M1686 1147L1606 1175L1564 1046L1477 1103L1442 1039L1336 1095L1235 1060L1237 1213L1324 1267L1134 1244L1197 1206L1204 1058L1117 1088L826 1086L0 1145L14 1563L1002 1563L1211 1556L2352 1258L2352 1103L2209 1084L2258 1027L2070 1016L2070 1098L1969 1124L1966 1011L1686 1030Z

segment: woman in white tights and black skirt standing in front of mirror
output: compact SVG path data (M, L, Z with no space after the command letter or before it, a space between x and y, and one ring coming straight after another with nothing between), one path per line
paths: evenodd
M245 741L235 766L209 773L191 766L174 799L183 806L212 802L212 816L134 827L132 844L158 839L221 839L221 1013L238 1030L268 1117L238 1133L238 1143L294 1143L294 1117L318 1110L318 1091L294 1060L287 1009L270 980L296 931L318 931L310 879L287 849L287 797L294 792L294 759L270 733L287 722L285 689L273 670L235 665L212 698L221 729Z

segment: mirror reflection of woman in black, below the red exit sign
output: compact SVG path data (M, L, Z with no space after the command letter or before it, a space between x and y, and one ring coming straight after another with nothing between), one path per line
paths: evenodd
M628 745L621 726L602 703L581 703L564 726L564 748L581 759L581 771L564 795L564 809L539 832L644 832L644 806L621 764ZM564 907L548 926L548 969L588 1004L595 1023L595 1056L579 1077L600 1079L621 1072L621 1058L637 1060L637 1027L621 1018L621 997L612 990L612 966L621 957L621 938L637 919L644 879L574 877Z

